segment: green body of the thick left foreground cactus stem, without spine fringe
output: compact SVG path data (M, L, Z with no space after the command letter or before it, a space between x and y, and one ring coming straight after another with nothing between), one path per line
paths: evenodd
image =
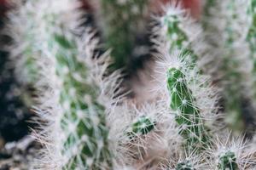
M104 107L97 102L98 89L86 80L88 69L77 59L77 48L63 34L49 42L58 48L55 54L56 76L60 78L61 131L65 134L61 153L67 156L67 169L111 167L108 128ZM71 53L73 52L73 53Z

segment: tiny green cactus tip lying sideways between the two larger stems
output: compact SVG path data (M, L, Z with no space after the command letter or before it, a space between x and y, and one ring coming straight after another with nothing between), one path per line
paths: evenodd
M139 116L136 122L131 125L131 130L128 132L130 138L139 135L145 135L154 130L156 122L152 121L148 116Z

